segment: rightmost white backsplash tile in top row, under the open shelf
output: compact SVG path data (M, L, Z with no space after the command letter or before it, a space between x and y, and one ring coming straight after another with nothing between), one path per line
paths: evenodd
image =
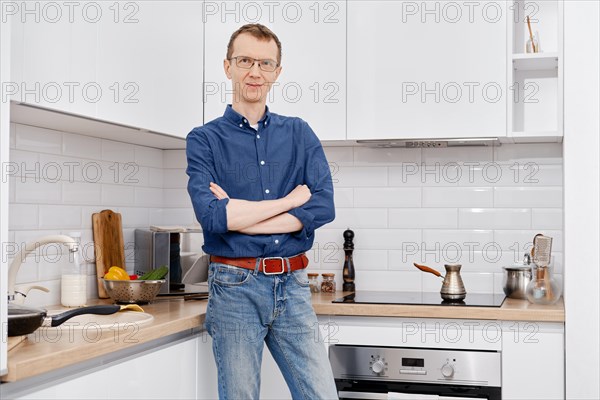
M505 144L494 147L494 161L504 164L562 164L562 146L557 143Z

